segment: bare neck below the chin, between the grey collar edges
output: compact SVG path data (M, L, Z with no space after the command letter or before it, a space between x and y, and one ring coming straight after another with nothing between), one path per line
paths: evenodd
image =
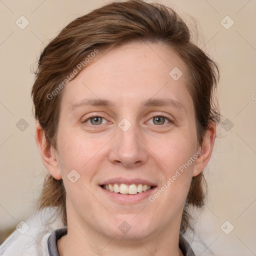
M178 247L178 234L171 230L148 237L120 239L96 233L87 226L85 229L76 225L67 225L67 234L57 242L59 256L94 255L94 256L182 256ZM86 230L86 231L84 231Z

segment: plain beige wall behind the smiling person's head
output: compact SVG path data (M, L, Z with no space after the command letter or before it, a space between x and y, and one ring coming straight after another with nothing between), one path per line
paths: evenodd
M33 211L46 171L35 143L35 120L30 96L36 59L49 39L74 18L102 6L107 0L0 1L0 230L12 230ZM151 1L152 2L152 1ZM204 170L209 195L195 224L192 247L198 255L256 255L256 0L159 0L191 23L198 23L200 47L220 69L221 121L212 158ZM20 29L23 15L29 24ZM234 24L226 29L221 20ZM189 21L190 19L190 21ZM231 20L224 18L225 26ZM253 94L254 93L254 94ZM23 118L28 127L18 129ZM21 127L19 127L21 128ZM225 234L228 220L234 229ZM231 224L224 225L229 230Z

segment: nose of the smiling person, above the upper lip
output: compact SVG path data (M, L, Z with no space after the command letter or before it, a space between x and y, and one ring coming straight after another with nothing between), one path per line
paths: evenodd
M126 131L117 127L117 134L113 137L111 143L108 158L113 164L135 168L144 164L148 159L143 136L140 132L137 132L135 125L131 125Z

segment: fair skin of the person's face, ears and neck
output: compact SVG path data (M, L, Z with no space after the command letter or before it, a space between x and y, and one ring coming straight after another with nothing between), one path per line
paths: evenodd
M169 75L173 67L183 72L176 81ZM192 176L209 161L215 138L215 124L210 122L198 145L186 79L184 62L167 45L126 43L66 84L56 150L37 123L42 161L54 178L63 179L66 189L68 233L57 244L61 256L182 255L178 235L185 198ZM84 98L112 100L114 106L70 111ZM184 108L140 106L150 98L172 98ZM90 114L102 119L93 125ZM158 124L153 116L162 115L170 121L156 118ZM126 131L118 127L123 118L131 124ZM158 190L196 151L200 156L154 202L116 202L98 185L111 177L143 178L154 181ZM67 178L72 169L80 175L74 183ZM131 227L126 233L118 229L123 221Z

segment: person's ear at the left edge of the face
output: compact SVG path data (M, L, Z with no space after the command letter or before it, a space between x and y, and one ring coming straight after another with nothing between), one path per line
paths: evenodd
M44 166L49 171L51 176L53 176L55 179L61 179L62 177L57 160L57 153L55 150L53 150L49 142L46 141L45 133L38 121L35 126L35 139Z

